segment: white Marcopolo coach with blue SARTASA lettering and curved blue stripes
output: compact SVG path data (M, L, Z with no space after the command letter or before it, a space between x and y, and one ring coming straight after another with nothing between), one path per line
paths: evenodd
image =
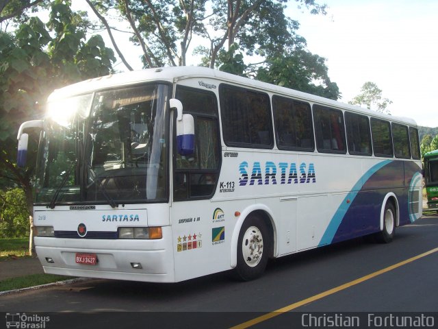
M374 234L422 216L417 127L201 67L55 90L34 204L46 273L179 282Z

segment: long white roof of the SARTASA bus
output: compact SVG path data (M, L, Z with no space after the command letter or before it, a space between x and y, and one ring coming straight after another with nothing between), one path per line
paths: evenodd
M388 114L378 113L372 110L361 108L359 106L352 106L347 103L333 101L332 99L327 99L308 93L302 93L298 90L276 86L274 84L268 84L266 82L260 82L257 80L249 79L247 77L240 77L238 75L225 73L215 69L209 69L203 66L170 66L156 69L144 69L140 71L129 71L125 73L106 75L104 77L96 77L94 79L85 80L83 82L78 82L76 84L71 84L70 86L55 90L49 96L49 101L51 99L57 99L58 97L80 95L83 93L90 93L95 90L101 90L105 88L129 86L131 84L140 84L152 81L173 83L178 80L189 79L192 77L200 77L204 79L211 78L215 80L220 80L221 82L225 83L257 88L259 90L264 90L267 93L277 93L279 95L287 97L296 97L298 99L311 101L313 103L320 103L321 105L352 110L353 112L359 112L365 115L370 115L372 117L380 117L381 119L400 121L402 123L416 125L415 121L410 118L395 117Z

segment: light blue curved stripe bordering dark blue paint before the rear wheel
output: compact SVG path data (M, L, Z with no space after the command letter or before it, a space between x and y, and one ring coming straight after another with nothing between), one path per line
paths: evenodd
M359 191L361 191L362 186L371 178L372 175L374 175L374 173L376 173L377 171L379 171L380 169L385 167L390 162L392 162L392 160L384 160L382 162L378 162L378 164L375 164L373 167L371 167L371 169L369 169L357 181L357 183L355 184L355 186L353 186L350 193L348 193L346 195L346 197L344 198L344 200L342 201L342 204L335 212L335 215L333 215L333 218L331 219L329 226L327 227L326 231L324 232L324 235L322 236L318 247L320 247L322 245L329 245L330 243L332 243L333 238L335 237L335 234L336 234L339 226L341 225L342 219L344 219L346 212L348 211L353 200L357 196L357 193ZM347 200L349 200L348 203L347 203Z

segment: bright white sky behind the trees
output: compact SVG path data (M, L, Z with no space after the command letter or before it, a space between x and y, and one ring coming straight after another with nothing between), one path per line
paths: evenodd
M347 103L365 82L374 82L383 90L382 96L393 102L387 107L392 115L438 127L438 1L317 2L329 6L325 16L299 10L295 1L289 1L287 16L300 23L298 34L307 40L309 51L326 58L329 77L342 93L340 101ZM73 5L95 17L84 0ZM106 32L101 34L110 47ZM128 41L128 34L115 35L129 64L141 69L140 47ZM126 71L120 60L115 69Z

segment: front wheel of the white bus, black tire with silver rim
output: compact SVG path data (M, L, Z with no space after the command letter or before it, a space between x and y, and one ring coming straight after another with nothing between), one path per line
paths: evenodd
M240 229L237 241L237 267L240 280L259 278L268 264L270 251L269 230L265 221L257 215L250 215Z

